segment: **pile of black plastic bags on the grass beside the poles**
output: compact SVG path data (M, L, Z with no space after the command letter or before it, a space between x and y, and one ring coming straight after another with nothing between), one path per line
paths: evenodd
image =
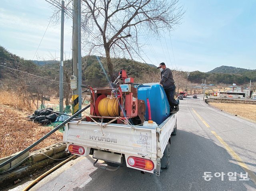
M46 108L53 111L53 108ZM46 109L35 110L34 114L28 116L29 121L38 122L42 125L47 125L56 120L57 114L52 113Z

